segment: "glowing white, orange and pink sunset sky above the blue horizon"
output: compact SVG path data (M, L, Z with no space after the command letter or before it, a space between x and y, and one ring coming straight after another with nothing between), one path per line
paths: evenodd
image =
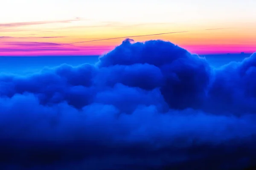
M255 0L8 0L0 56L100 55L133 37L168 40L196 54L256 51Z

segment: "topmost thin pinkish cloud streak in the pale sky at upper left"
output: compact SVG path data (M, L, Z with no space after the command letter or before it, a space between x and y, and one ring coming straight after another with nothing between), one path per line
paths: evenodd
M32 22L20 22L20 23L0 23L0 28L32 26L32 25L52 24L52 23L70 23L70 22L78 21L78 20L81 20L81 18L75 18L73 20L32 21Z

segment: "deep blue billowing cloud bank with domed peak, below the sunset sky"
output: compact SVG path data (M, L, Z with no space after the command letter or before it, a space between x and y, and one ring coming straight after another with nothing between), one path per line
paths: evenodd
M255 65L253 54L216 69L171 42L125 40L96 65L1 74L0 167L246 167L256 151Z

